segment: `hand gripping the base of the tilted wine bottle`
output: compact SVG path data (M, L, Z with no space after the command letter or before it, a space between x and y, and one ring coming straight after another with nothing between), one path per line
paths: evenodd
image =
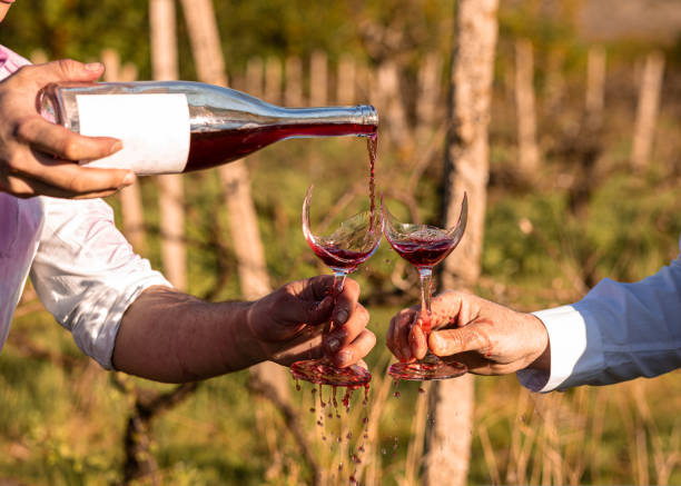
M36 96L46 85L93 81L102 72L100 63L61 60L27 66L0 82L0 191L23 198L90 198L111 195L135 181L129 170L75 163L118 151L119 140L79 136L46 121L36 108Z

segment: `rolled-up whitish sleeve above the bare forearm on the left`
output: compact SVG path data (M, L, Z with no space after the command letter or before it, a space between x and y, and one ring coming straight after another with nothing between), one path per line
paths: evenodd
M132 251L101 199L42 197L45 225L31 280L76 345L105 369L124 313L147 287L170 284Z

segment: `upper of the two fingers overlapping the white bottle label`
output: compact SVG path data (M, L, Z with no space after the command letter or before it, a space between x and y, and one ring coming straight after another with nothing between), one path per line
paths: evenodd
M101 159L122 148L115 138L83 137L38 115L21 120L14 133L36 150L72 161Z

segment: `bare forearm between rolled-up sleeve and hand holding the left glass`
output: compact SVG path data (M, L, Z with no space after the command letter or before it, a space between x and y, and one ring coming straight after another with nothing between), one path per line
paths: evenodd
M246 325L249 306L213 304L150 287L124 316L114 366L157 381L185 383L263 361L264 353Z

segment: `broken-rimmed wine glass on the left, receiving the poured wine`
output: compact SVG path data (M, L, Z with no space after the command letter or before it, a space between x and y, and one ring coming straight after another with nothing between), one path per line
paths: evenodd
M366 261L378 248L383 237L383 218L381 211L364 211L343 221L328 236L314 235L309 225L312 190L313 186L303 202L303 234L315 255L333 270L335 298L343 291L347 274ZM328 323L325 333L333 326L333 323ZM319 385L357 387L372 379L371 373L361 366L337 368L327 358L296 361L290 365L290 371L296 379Z

